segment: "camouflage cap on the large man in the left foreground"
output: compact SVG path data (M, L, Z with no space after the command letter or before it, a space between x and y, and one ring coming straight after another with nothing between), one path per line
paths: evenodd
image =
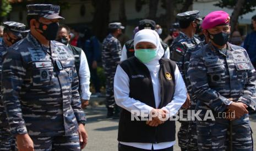
M59 5L51 4L34 4L26 5L28 15L39 15L46 19L64 19L59 16Z

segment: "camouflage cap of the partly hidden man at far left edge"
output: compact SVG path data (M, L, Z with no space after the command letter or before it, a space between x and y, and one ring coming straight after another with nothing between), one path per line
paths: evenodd
M3 22L4 28L7 28L9 31L12 31L15 36L22 37L21 32L25 31L26 25L15 22L15 21L5 21Z

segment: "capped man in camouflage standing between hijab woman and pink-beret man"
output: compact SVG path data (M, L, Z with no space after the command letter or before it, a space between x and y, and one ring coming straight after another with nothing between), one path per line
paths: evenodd
M191 84L189 80L186 79L186 74L192 50L196 45L201 43L200 40L194 37L195 32L199 29L201 18L199 18L198 10L177 14L177 18L179 19L181 31L179 32L179 36L171 45L171 60L176 61L179 71L181 72L183 80L187 86L188 98L186 103L183 105L183 118L187 118L189 101L190 98L193 101L194 96L191 90ZM189 121L180 122L181 127L178 132L179 147L181 147L181 150L197 150L196 135L188 135Z

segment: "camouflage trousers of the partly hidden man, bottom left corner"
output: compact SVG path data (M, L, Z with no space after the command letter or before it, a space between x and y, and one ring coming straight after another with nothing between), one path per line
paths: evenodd
M0 150L15 150L15 138L7 129L0 127Z

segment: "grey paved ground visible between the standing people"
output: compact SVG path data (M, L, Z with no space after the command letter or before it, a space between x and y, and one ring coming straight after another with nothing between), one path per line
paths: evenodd
M83 151L116 151L118 120L105 119L106 109L104 106L89 107L85 111L88 117L86 130L88 131L89 142ZM251 115L250 120L253 132L256 132L256 114ZM179 126L180 125L177 122L176 132L178 131ZM256 140L255 133L253 134L253 140ZM256 145L255 142L256 141L254 141L254 146ZM174 150L180 150L177 143Z

